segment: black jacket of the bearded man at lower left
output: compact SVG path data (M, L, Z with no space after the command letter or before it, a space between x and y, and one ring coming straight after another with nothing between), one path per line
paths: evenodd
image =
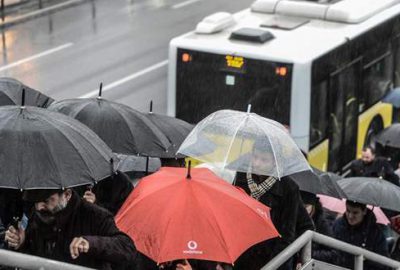
M89 241L89 252L76 260L69 251L74 237ZM96 269L123 269L136 257L132 240L118 230L113 216L75 193L54 224L44 224L35 214L31 216L21 251Z

